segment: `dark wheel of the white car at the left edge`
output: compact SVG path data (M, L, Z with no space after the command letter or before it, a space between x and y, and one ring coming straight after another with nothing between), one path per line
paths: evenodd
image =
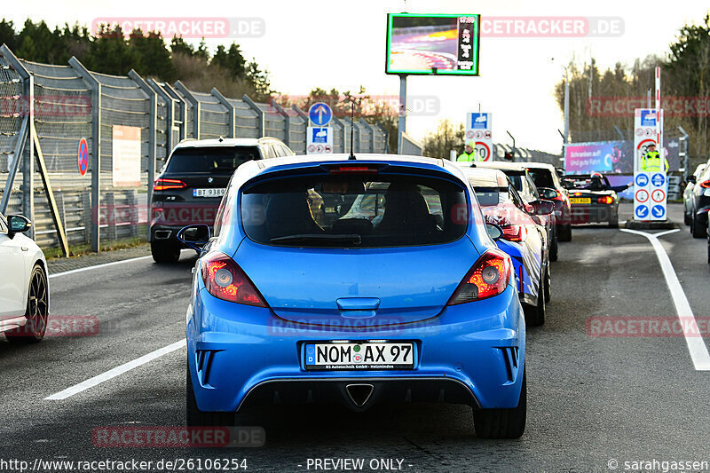
M47 332L49 311L50 299L47 275L44 273L42 266L35 264L29 279L28 304L25 311L27 321L24 326L5 332L7 341L12 343L40 342Z

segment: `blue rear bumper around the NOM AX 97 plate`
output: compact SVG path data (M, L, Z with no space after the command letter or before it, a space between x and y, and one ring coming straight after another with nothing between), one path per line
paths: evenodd
M270 309L217 299L196 280L187 311L187 359L202 411L238 411L256 398L340 402L343 383L362 380L375 385L379 400L517 406L525 319L511 284L499 296L448 306L432 319L362 329L288 323ZM327 340L413 341L414 369L307 371L304 343Z

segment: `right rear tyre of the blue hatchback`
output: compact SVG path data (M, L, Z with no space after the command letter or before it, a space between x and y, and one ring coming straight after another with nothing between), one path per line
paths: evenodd
M525 370L527 371L527 370ZM523 386L517 407L511 409L474 409L473 426L478 438L520 438L525 433L527 417L527 382Z

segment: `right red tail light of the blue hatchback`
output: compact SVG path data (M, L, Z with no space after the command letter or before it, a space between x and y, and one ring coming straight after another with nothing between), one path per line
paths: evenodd
M500 249L489 249L478 258L446 305L466 304L498 296L508 286L511 268L508 255Z

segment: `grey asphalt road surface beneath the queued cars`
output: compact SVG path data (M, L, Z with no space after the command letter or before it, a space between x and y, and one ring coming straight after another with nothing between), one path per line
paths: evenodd
M671 208L675 222L680 211ZM629 213L624 206L622 218ZM706 240L680 227L660 240L702 319L710 316ZM623 471L625 461L710 461L710 373L696 371L682 335L588 335L590 317L676 317L650 242L602 226L575 228L560 245L547 323L528 330L528 423L519 440L476 438L465 406L407 405L364 414L275 409L264 414L260 448L95 446L98 427L184 425L185 348L70 398L44 398L184 338L193 262L185 251L179 264L140 259L51 278L53 317L93 316L99 331L0 343L0 467L229 456L251 471L308 471L315 458L361 458L365 470L372 459L398 459L406 471L610 471L613 459Z

